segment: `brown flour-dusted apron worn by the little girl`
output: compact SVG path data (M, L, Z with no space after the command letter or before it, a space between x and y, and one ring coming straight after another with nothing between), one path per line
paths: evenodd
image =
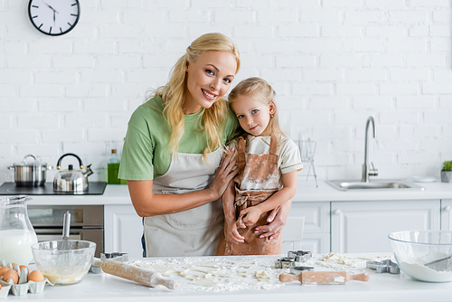
M239 175L234 178L235 186L235 211L238 223L242 217L240 211L250 206L265 202L268 197L278 192L278 138L270 138L270 149L268 154L245 153L246 141L239 138L237 146L237 168ZM256 189L244 190L243 184L252 184ZM245 238L244 243L232 243L226 241L226 255L277 255L281 253L281 235L259 238L259 233L254 233L258 226L268 224L269 212L260 215L259 221L246 229L238 229L241 236Z

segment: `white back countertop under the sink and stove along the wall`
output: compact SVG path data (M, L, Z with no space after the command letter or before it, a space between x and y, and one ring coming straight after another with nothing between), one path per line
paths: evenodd
M452 183L417 183L419 189L381 189L338 191L324 181L318 188L299 177L294 202L353 202L382 200L452 199ZM127 185L108 184L103 195L33 195L28 204L131 204Z

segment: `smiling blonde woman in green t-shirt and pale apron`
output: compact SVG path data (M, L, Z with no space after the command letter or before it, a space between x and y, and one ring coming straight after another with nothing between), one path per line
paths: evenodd
M144 257L215 254L221 195L237 174L222 146L239 125L222 97L239 69L239 50L228 37L203 34L176 62L169 82L130 118L119 178L127 179L144 217ZM262 232L281 231L289 209Z

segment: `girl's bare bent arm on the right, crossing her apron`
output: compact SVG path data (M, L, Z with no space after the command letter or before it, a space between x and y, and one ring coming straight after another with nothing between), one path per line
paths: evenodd
M281 190L271 195L265 202L259 203L258 205L255 205L253 207L241 211L240 215L253 212L253 216L254 217L257 216L259 218L260 214L276 209L283 203L286 203L288 200L291 200L292 197L294 197L295 193L297 192L297 178L298 178L297 171L292 171L287 174L281 175L281 183L283 185L283 188ZM247 220L246 216L243 218L243 222L245 222L245 224L253 223Z

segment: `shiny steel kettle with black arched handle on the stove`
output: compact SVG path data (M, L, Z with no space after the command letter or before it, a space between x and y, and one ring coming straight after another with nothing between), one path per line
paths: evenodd
M61 160L66 156L75 156L79 160L80 169L83 169L83 163L79 156L73 153L66 153L61 156L57 163L57 170L61 169ZM88 176L93 172L87 165L86 172L81 170L74 170L73 165L68 165L67 170L61 170L53 178L53 191L68 192L68 193L82 193L88 191Z

